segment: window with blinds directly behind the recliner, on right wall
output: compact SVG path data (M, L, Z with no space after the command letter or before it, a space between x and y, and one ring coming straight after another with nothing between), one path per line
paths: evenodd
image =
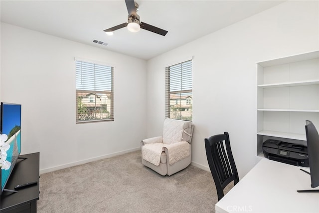
M165 68L165 117L192 121L192 60Z

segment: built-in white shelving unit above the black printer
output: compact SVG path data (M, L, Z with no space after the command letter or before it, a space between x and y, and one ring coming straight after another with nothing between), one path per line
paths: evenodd
M257 155L276 139L306 145L305 125L319 128L319 51L257 63Z

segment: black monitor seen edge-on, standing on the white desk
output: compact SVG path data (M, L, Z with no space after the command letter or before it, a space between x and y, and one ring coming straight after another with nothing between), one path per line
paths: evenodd
M310 173L305 170L301 170L310 174L311 187L316 188L319 186L319 134L313 122L309 120L306 120L305 127ZM319 193L319 190L298 190L297 192Z

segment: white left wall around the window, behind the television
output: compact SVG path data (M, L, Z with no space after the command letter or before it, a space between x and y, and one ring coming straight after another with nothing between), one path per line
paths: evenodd
M115 66L114 122L75 124L74 57ZM1 23L1 101L22 104L21 151L42 172L139 149L146 76L145 60Z

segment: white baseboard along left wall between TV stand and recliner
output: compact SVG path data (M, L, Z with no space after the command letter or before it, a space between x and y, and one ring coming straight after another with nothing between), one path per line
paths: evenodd
M86 164L86 163L89 163L89 162L92 162L92 161L98 161L98 160L101 160L101 159L104 159L104 158L111 158L111 157L114 157L114 156L117 156L117 155L122 155L122 154L125 154L125 153L138 151L140 149L141 149L141 147L134 148L134 149L128 149L128 150L124 150L124 151L121 151L121 152L115 152L115 153L111 153L111 154L107 154L107 155L103 155L103 156L98 156L98 157L94 157L94 158L85 159L85 160L82 160L82 161L76 161L76 162L69 163L69 164L63 164L63 165L56 166L56 167L42 169L42 170L40 170L40 175L44 174L44 173L60 170L60 169L65 169L65 168L68 168L68 167L73 167L73 166L77 166L77 165L81 165L81 164Z

